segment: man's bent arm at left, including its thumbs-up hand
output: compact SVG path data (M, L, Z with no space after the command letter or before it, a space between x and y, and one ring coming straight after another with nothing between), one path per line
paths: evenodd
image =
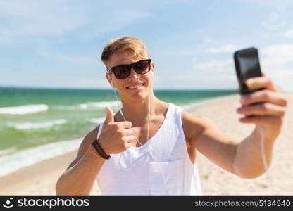
M135 141L130 129L131 122L113 122L113 110L106 107L107 116L99 136L99 144L106 154L117 154L126 151ZM57 195L89 195L96 176L105 160L98 158L92 150L92 142L96 139L99 127L89 132L80 144L77 158L68 166L56 184Z

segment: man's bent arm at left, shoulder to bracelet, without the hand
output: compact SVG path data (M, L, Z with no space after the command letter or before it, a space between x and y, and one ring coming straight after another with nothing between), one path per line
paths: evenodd
M89 195L91 193L96 176L105 162L103 158L96 157L90 149L98 130L99 126L83 139L77 158L70 163L57 181L57 195Z

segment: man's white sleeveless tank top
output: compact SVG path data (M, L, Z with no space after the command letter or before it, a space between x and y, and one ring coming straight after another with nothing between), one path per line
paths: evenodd
M111 154L97 176L102 195L202 194L197 165L189 160L181 111L182 108L169 103L163 124L149 141ZM103 123L97 138L102 128Z

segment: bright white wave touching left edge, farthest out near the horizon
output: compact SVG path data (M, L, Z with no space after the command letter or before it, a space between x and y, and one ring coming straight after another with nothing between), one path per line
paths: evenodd
M39 113L48 110L46 104L35 104L26 106L13 106L0 108L0 114L6 115L26 115L30 113Z

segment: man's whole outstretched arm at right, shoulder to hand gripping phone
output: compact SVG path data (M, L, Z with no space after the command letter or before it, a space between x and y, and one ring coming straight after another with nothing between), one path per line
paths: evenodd
M237 112L254 117L242 117L239 121L256 125L254 131L244 140L227 136L204 116L194 117L182 112L182 124L189 146L224 170L249 179L266 172L263 157L266 157L266 163L270 165L273 144L281 131L287 98L266 75L250 79L247 85L249 89L264 89L241 97L242 107ZM265 152L263 157L262 137Z

